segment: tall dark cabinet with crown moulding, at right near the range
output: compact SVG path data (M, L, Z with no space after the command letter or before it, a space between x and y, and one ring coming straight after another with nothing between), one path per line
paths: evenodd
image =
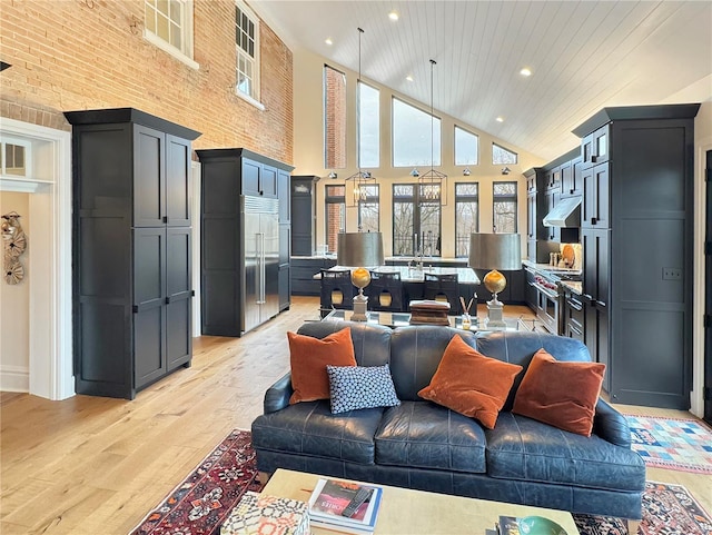
M574 130L585 340L616 403L690 407L699 108L604 108Z

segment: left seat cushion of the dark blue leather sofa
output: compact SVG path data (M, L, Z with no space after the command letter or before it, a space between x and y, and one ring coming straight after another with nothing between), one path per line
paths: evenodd
M255 419L253 445L256 449L373 464L374 435L383 412L366 408L333 415L327 400L289 405Z

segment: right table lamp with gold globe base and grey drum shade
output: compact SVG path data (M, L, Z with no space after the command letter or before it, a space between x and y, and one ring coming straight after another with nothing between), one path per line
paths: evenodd
M482 283L492 291L492 300L487 301L487 319L485 326L504 328L502 318L503 305L497 299L507 286L507 280L497 269L522 269L522 240L518 234L484 234L469 235L469 260L467 265L473 269L491 269Z

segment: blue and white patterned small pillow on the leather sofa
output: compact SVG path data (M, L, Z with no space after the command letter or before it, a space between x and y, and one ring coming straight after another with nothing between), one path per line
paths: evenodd
M326 366L332 413L400 405L388 365Z

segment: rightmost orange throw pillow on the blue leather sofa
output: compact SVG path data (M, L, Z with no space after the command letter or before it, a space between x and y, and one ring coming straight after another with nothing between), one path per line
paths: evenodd
M512 412L591 436L604 373L605 364L566 363L540 349L516 392Z

